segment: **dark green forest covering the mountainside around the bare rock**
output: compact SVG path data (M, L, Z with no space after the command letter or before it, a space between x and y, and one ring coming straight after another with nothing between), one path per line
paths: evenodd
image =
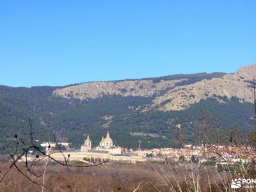
M28 118L33 120L35 139L38 142L51 141L53 134L57 133L60 134L61 141L71 142L73 147L79 147L86 134L90 134L93 145L97 145L107 130L111 133L115 145L136 148L140 140L143 148L172 147L177 145L174 137L176 124L182 124L182 131L186 135L184 140L193 143L191 133L202 114L202 109L209 122L220 125L227 133L232 127L243 129L244 132L250 131L254 124L250 120L253 116L253 104L240 102L236 97L221 103L217 95L216 98L200 100L180 111L159 111L154 108L145 110L156 97L164 95L170 89L204 79L221 78L224 75L193 74L113 81L115 84L124 81L152 81L152 85L162 82L164 89L156 91L153 87L152 94L147 96L124 96L122 92L125 94L129 90L122 90L120 94L102 93L95 99L77 99L72 95L60 97L54 94L56 90L70 86L0 86L0 153L12 150L15 134L19 134L24 140L28 138ZM182 81L179 81L180 79ZM174 83L168 87L164 81ZM138 89L143 87L138 86Z

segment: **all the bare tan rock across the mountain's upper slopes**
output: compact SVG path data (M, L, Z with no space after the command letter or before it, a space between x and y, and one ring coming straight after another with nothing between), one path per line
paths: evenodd
M240 102L253 102L254 76L256 76L256 64L242 67L235 74L225 74L210 79L205 76L205 79L191 83L188 83L188 78L93 82L61 88L54 91L54 95L66 99L86 100L97 99L104 95L150 97L155 94L156 97L144 108L144 111L151 109L179 111L209 98L217 99L218 102L227 102L232 97L237 97Z

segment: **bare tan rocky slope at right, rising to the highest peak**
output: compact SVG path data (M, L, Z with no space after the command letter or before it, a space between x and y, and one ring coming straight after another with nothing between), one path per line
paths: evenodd
M256 76L256 64L242 67L235 74L203 80L186 86L177 86L154 99L149 108L163 111L183 110L201 99L216 98L225 102L237 97L240 102L253 102L252 80Z

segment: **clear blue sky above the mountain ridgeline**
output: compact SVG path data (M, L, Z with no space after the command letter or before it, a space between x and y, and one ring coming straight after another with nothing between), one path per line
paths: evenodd
M256 1L1 1L0 84L65 85L256 62Z

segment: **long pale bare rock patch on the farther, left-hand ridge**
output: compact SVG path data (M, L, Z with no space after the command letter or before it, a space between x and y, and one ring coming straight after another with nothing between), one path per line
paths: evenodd
M82 83L58 89L54 91L54 95L67 99L73 97L80 100L97 99L103 95L150 97L154 93L158 93L166 88L172 88L175 83L185 80L160 81L158 83L154 83L152 80Z

